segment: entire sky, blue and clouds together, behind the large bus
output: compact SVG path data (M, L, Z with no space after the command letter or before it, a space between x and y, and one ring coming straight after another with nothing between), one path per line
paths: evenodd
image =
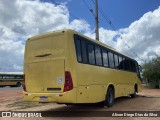
M160 55L159 0L98 2L101 42L139 64ZM0 0L0 72L23 71L25 42L31 36L73 29L94 39L94 13L94 0Z

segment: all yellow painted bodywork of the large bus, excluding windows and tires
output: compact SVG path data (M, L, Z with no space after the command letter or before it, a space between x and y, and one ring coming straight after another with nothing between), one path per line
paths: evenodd
M65 30L28 39L24 59L27 89L27 92L23 91L25 101L40 102L40 97L46 96L46 102L97 103L104 101L109 85L114 86L116 98L133 93L135 84L140 91L140 80L136 73L78 63L74 34L79 33ZM114 50L101 42L94 42ZM36 57L43 54L50 55ZM65 71L70 71L74 86L74 89L68 92L63 92ZM61 84L58 83L58 78L62 78ZM62 96L59 96L60 94Z

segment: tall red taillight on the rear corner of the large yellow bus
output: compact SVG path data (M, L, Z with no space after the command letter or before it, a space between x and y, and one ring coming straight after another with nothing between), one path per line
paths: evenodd
M66 92L72 89L73 89L73 82L72 82L71 73L69 71L65 71L65 83L64 83L63 91Z

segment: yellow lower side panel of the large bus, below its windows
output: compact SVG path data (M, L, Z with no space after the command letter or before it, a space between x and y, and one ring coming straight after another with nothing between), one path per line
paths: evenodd
M115 98L129 95L134 92L134 84L137 80L137 75L133 72L78 63L77 102L96 103L104 101L110 84L115 88Z

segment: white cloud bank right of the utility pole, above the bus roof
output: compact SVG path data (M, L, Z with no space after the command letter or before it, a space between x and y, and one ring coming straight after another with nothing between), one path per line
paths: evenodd
M128 28L112 31L101 27L99 31L101 42L136 59L140 64L160 55L160 7L144 14ZM95 38L91 32L85 35Z

